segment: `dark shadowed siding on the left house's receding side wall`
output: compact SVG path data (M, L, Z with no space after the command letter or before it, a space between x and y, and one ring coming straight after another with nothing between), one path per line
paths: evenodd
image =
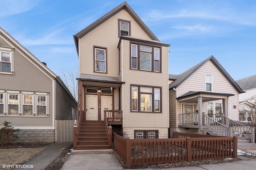
M56 119L59 120L71 120L71 107L77 110L77 104L70 97L68 92L63 88L63 86L55 80L56 84Z

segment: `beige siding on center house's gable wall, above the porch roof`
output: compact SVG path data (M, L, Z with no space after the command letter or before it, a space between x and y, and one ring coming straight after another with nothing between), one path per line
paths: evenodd
M118 12L110 19L90 31L84 37L79 39L80 74L118 77L118 19L131 21L131 36L150 39L150 37L148 37L148 35L141 29L136 21L130 16L130 14L128 14L128 12L123 9L122 11ZM94 72L93 46L107 48L108 74Z

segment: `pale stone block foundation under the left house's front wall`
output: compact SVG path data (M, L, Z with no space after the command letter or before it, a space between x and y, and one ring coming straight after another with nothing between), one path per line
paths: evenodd
M54 129L20 129L16 132L19 139L16 142L22 143L54 143Z

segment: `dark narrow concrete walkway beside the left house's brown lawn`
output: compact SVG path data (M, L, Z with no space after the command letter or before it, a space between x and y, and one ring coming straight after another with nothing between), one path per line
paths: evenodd
M61 154L64 148L71 144L72 143L51 143L47 145L40 154L23 164L33 165L33 168L16 168L15 170L43 170Z

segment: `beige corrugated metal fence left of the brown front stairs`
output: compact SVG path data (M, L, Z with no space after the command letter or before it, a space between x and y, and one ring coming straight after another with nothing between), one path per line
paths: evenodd
M74 120L56 120L57 143L73 142Z

